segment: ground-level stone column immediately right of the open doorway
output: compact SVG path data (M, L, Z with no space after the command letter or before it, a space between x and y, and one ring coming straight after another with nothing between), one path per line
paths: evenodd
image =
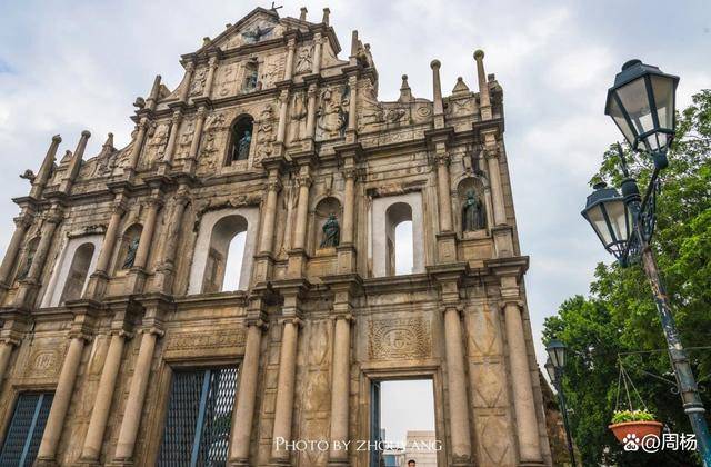
M447 384L449 386L449 417L454 465L471 465L471 430L467 398L467 374L459 309L445 306L444 347L447 349Z

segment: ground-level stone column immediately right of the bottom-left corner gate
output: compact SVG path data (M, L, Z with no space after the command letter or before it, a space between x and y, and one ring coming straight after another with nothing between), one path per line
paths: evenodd
M69 403L73 395L77 371L79 370L81 354L83 352L87 340L89 340L88 336L77 334L69 342L69 350L64 357L62 370L59 374L59 381L54 390L52 407L47 417L47 425L37 455L36 466L56 465L57 445L63 431L64 417L67 416Z

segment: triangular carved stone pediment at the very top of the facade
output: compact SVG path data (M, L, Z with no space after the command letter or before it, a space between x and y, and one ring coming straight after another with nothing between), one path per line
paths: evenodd
M227 28L214 39L203 44L202 49L230 50L251 43L279 38L283 34L286 26L280 21L279 14L273 10L256 8L237 23Z

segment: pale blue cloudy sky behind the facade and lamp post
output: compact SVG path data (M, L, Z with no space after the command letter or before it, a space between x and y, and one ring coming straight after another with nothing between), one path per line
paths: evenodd
M431 98L429 63L442 62L442 86L462 76L475 89L472 52L485 51L488 73L504 90L505 143L537 340L543 318L574 294L587 294L594 265L608 260L580 217L588 180L607 146L620 139L603 115L620 66L639 58L681 77L679 107L711 86L711 8L705 1L301 1L282 16L310 19L331 9L341 46L358 29L380 73L380 99L394 100L407 73L418 97ZM60 155L81 130L87 156L106 135L128 142L128 117L154 74L169 88L182 77L181 53L196 50L256 6L271 2L179 0L0 3L0 249L17 207L52 135ZM341 57L344 54L342 53ZM673 161L672 161L673 163ZM543 361L542 347L538 347Z

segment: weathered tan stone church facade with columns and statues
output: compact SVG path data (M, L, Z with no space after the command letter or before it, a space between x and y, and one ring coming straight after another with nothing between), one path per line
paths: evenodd
M403 77L381 102L370 46L340 51L328 9L258 8L182 56L174 90L157 77L126 148L52 139L0 266L0 437L20 393L53 390L37 465L153 465L172 371L239 365L231 466L367 466L273 441L369 439L371 382L407 377L433 380L439 465L551 464L501 86L477 51L479 92L443 97L434 60L432 100ZM240 290L220 291L236 232Z

